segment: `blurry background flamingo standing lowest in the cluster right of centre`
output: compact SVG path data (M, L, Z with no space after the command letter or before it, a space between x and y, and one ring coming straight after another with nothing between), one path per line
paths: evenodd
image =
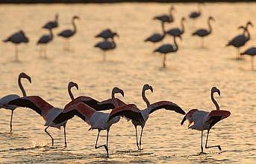
M170 45L170 44L161 45L160 47L154 50L154 52L163 53L163 68L166 68L166 54L175 53L178 51L176 37L181 39L181 36L173 36L174 45Z

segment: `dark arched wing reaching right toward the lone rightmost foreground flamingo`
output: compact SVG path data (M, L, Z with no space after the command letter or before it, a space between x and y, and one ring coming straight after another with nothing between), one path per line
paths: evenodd
M169 101L154 102L154 104L151 105L149 114L152 114L154 111L157 111L158 109L161 109L161 108L165 108L166 110L170 110L170 111L175 111L178 114L183 114L183 115L186 114L181 107Z

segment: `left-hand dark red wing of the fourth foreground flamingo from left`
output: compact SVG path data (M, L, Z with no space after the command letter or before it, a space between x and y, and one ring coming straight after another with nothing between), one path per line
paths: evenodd
M107 121L118 116L124 116L137 122L145 122L145 120L143 119L143 115L140 112L140 109L137 108L137 106L134 104L122 105L118 108L114 108L109 114Z

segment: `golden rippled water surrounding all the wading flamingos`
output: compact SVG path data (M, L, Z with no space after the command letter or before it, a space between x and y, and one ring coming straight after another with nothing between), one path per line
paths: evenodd
M125 102L134 102L145 108L140 93L143 84L154 87L147 94L150 102L162 99L178 103L184 111L190 108L213 110L210 88L216 85L222 96L217 98L222 109L231 111L231 117L216 124L210 133L210 145L216 148L200 151L200 132L181 126L181 115L171 111L157 111L151 115L143 133L143 151L136 151L135 131L131 122L122 119L110 131L110 157L104 148L94 149L97 131L75 117L67 124L68 148L63 148L63 130L51 128L55 139L51 147L44 133L43 119L34 111L17 108L13 117L13 134L9 134L10 111L1 110L0 161L1 163L255 163L256 162L256 71L250 68L250 58L237 61L236 50L225 47L228 39L240 33L237 27L251 20L256 24L256 4L207 4L203 16L195 23L188 21L186 33L179 42L178 53L167 57L167 68L161 67L162 56L153 54L157 45L143 39L160 32L160 23L152 17L166 13L169 4L33 4L1 5L0 36L9 36L23 29L31 42L19 47L22 62L13 62L13 45L0 45L0 95L21 94L17 76L24 71L32 84L23 82L28 95L40 95L52 105L63 107L69 102L66 85L77 82L75 96L88 95L107 99L113 86L125 91ZM175 23L180 26L181 16L196 10L196 4L175 4ZM78 33L72 38L71 51L63 51L63 40L56 37L48 47L49 59L40 59L37 39L43 33L40 27L60 14L60 30L70 26L74 15L81 17ZM199 38L191 37L197 27L207 27L207 16L213 16L213 35L200 48ZM118 48L102 62L102 52L93 45L100 30L111 27L120 37ZM256 45L256 30L246 47ZM166 38L164 43L172 42ZM160 44L163 44L160 43ZM158 44L158 45L160 45ZM243 47L243 49L246 49ZM100 142L104 143L105 132Z

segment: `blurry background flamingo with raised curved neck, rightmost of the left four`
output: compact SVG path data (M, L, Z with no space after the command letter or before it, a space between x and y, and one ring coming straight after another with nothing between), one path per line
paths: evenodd
M78 16L73 16L72 17L72 26L73 30L63 30L61 33L58 33L57 36L61 36L64 39L66 39L66 44L64 45L64 49L69 50L69 38L71 36L74 36L75 33L77 32L77 27L75 25L75 20L79 20L80 18Z

